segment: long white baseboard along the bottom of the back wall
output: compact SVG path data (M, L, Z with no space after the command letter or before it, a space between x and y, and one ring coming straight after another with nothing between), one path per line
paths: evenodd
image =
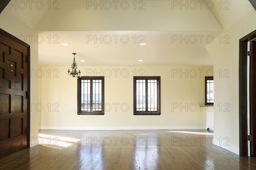
M69 126L42 126L41 129L52 130L153 130L153 129L206 129L205 126L131 126L131 127L69 127Z

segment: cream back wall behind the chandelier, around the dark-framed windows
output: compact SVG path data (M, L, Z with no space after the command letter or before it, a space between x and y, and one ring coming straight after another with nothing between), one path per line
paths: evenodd
M44 106L41 111L42 129L205 129L206 127L205 107L200 107L198 103L204 103L204 76L207 70L209 76L212 75L211 66L79 67L81 76L95 76L95 72L98 72L96 76L105 76L105 104L108 104L105 105L103 116L77 115L77 79L67 74L68 68L69 66L42 66L44 75L38 73L42 79L41 105ZM116 76L114 69L119 69L116 71ZM144 73L139 72L139 69ZM93 71L93 74L88 74L89 71ZM176 71L187 71L187 78L186 74L172 75ZM160 116L133 115L134 73L137 76L143 73L143 76L161 77ZM119 103L116 110L113 103ZM177 107L180 103L185 108ZM123 108L120 108L121 105ZM127 105L128 109L126 109ZM57 106L59 106L58 111L53 111Z

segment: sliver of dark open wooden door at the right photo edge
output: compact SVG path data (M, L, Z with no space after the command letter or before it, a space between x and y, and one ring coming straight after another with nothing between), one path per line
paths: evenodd
M250 156L256 156L256 41L250 42Z

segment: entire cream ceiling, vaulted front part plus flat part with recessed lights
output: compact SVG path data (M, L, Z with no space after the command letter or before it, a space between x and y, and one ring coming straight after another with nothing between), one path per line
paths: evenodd
M212 10L207 9L205 3L202 8L197 3L198 7L192 9L195 4L191 2L199 1L190 0L187 9L180 4L176 6L175 3L181 1L172 0L138 0L134 9L134 1L128 0L126 10L119 4L124 1L118 1L116 9L111 3L109 10L105 9L109 4L104 0L60 0L54 4L55 1L51 1L50 10L48 1L41 2L47 8L5 8L44 38L38 44L41 65L70 65L73 52L77 53L78 65L213 65L205 45L221 34L223 28L254 10L248 0L228 1L228 11L219 10L216 3ZM88 6L95 2L101 2L102 9ZM138 10L139 6L144 9ZM99 38L96 42L95 37ZM125 43L127 37L129 40ZM180 37L185 40L174 40ZM140 41L146 45L139 45ZM69 45L61 45L63 42Z

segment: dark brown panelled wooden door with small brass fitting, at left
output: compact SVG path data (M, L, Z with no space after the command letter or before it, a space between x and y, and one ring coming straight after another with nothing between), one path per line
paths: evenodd
M29 45L0 29L0 158L29 147Z

